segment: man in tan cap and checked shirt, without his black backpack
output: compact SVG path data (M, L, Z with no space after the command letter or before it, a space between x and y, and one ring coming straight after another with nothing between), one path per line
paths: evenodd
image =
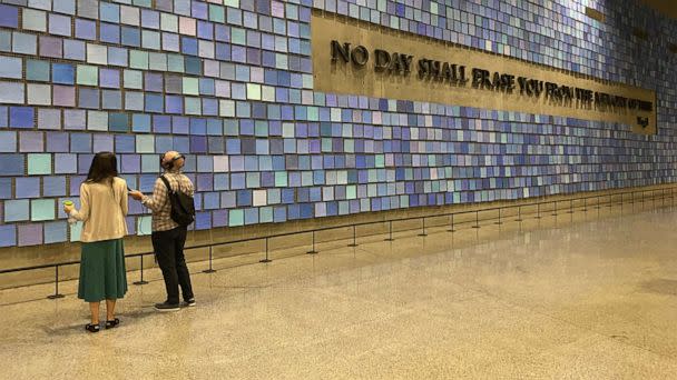
M160 159L160 166L165 170L163 177L167 179L171 190L193 197L193 182L181 173L184 164L184 156L175 151L166 152ZM131 198L141 201L145 207L153 210L153 249L167 289L167 300L155 304L155 309L158 311L177 311L180 306L195 306L190 274L184 257L184 244L188 231L187 227L181 227L171 219L171 202L168 194L169 191L161 177L155 181L151 197L144 196L138 190L129 192ZM178 298L179 286L184 296L181 304L179 304Z

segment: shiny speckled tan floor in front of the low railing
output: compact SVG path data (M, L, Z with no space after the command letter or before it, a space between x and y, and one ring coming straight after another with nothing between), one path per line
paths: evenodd
M60 300L1 291L0 378L677 378L677 209L359 243L192 266L198 306L176 313L151 309L151 271L120 301L121 326L97 334L73 282Z

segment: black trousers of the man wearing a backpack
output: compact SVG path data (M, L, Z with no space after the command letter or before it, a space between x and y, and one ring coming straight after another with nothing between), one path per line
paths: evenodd
M187 301L194 297L190 273L188 273L186 258L184 257L187 233L185 227L177 227L168 231L154 231L151 236L153 249L165 278L168 303L178 303L179 286L184 300Z

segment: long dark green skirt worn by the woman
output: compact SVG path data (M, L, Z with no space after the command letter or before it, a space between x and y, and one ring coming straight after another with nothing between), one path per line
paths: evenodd
M126 292L122 239L84 242L78 298L98 302L122 298Z

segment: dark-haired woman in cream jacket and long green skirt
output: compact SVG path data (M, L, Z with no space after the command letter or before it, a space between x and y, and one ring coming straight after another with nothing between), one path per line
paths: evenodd
M111 152L94 157L87 180L80 186L80 210L65 206L63 211L85 223L80 241L80 283L78 298L89 302L91 323L85 329L98 332L99 303L106 300L106 328L120 322L115 302L127 292L125 250L127 234L127 182L118 178L117 159Z

